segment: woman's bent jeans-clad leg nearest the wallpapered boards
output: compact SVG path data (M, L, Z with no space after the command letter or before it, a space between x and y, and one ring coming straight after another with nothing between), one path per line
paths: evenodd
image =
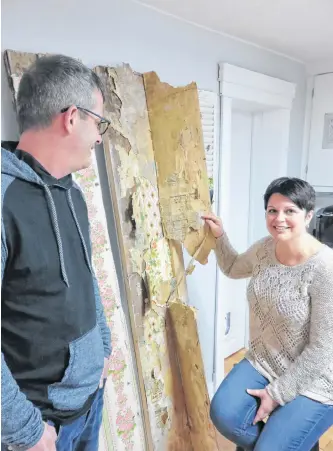
M211 403L210 414L217 430L246 450L254 448L264 427L263 422L252 424L258 401L246 390L262 389L267 384L267 379L244 359L224 379Z

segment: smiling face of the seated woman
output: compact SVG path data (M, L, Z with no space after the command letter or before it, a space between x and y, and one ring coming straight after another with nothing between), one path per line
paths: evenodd
M266 225L275 239L290 240L306 233L313 212L306 213L282 194L273 194L267 205Z

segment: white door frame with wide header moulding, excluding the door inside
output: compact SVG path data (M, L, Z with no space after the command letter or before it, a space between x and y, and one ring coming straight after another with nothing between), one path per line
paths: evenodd
M228 230L230 193L230 163L231 163L231 124L232 109L237 102L245 102L255 110L283 109L290 117L296 85L258 72L243 69L228 63L219 64L219 96L220 96L220 133L219 133L219 161L217 169L216 202L217 214L223 218L225 229ZM289 138L289 127L284 131ZM285 149L288 152L288 146ZM287 162L287 159L285 159ZM286 168L287 170L287 168ZM251 213L249 216L250 221ZM249 227L249 224L248 224ZM217 268L216 298L215 298L215 343L214 343L214 391L224 379L225 358L225 309L223 299L228 295L225 276ZM248 312L246 312L248 323ZM248 327L247 333L248 335Z

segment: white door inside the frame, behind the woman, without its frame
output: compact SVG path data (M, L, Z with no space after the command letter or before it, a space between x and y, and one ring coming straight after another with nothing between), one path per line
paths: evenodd
M239 105L239 103L238 103ZM239 106L238 106L239 108ZM262 109L232 110L229 206L226 232L242 253L267 235L264 193L276 178L287 173L290 111ZM222 220L224 218L222 217ZM247 279L223 279L224 356L248 346L249 324Z

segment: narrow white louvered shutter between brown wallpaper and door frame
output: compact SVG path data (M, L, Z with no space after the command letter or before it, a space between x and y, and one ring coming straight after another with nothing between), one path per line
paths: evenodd
M216 93L199 90L199 106L210 189L214 187L217 162L215 154L217 147L217 100L218 95Z

